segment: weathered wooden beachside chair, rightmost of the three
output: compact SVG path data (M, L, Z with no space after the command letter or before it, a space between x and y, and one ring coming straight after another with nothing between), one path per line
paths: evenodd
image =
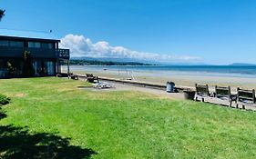
M237 89L237 108L239 107L239 104L242 105L242 109L245 109L245 104L255 104L255 90L246 90L241 89L238 87Z

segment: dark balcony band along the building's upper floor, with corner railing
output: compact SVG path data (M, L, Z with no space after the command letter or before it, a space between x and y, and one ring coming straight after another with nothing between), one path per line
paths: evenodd
M23 57L29 51L34 58L70 58L69 49L44 49L0 46L0 57Z

